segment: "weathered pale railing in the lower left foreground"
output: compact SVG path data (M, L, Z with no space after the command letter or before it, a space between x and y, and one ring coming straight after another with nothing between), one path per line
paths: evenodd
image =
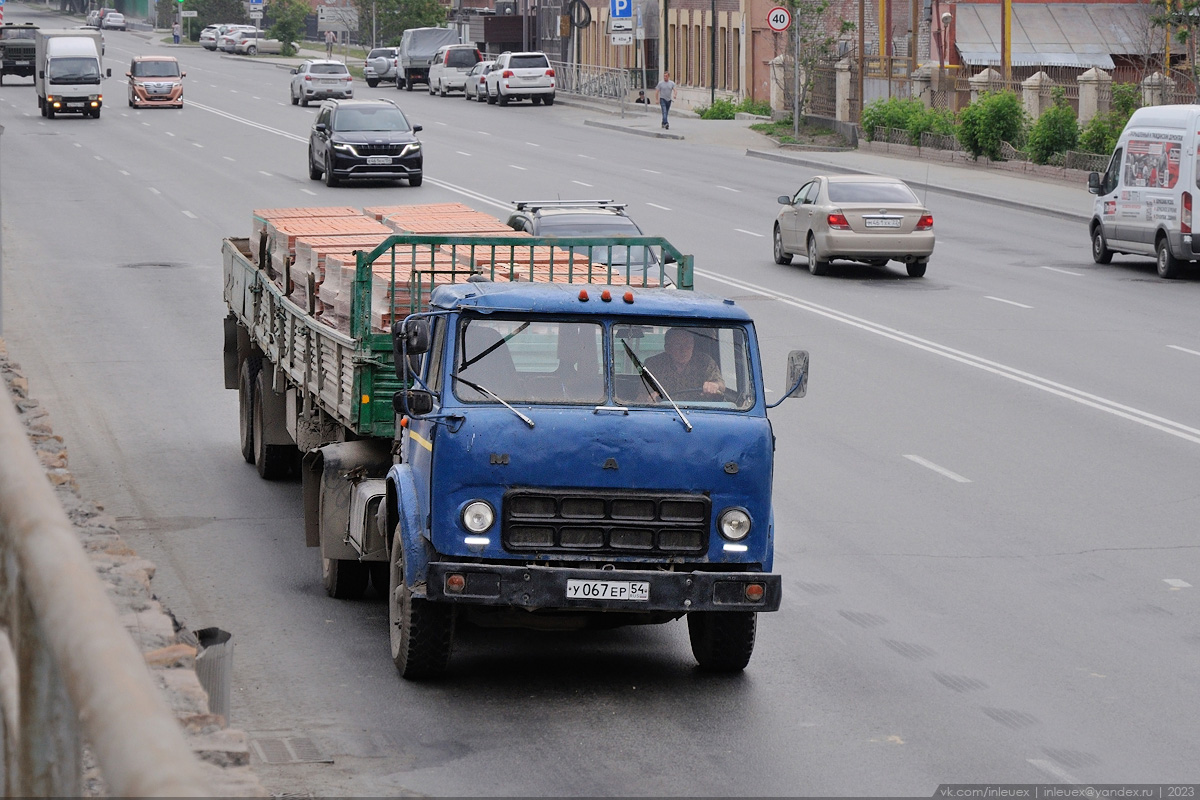
M83 738L113 796L209 796L199 762L84 554L10 393L0 395L5 796L82 795Z

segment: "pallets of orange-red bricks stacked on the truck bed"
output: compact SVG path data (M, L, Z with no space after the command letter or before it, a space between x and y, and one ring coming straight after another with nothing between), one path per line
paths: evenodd
M409 311L414 294L425 300L438 284L481 273L493 281L659 285L658 276L593 264L583 253L522 243L492 216L461 203L384 205L366 209L259 209L253 212L251 251L277 285L312 309L319 321L349 331L356 253L370 252L395 234L486 236L491 245L396 245L372 264L371 327L385 331ZM510 243L509 243L510 242Z

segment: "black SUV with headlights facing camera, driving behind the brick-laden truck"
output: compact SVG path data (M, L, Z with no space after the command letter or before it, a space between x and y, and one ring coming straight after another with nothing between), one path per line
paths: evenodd
M324 175L325 186L355 179L420 186L420 130L390 100L328 100L308 134L308 178Z

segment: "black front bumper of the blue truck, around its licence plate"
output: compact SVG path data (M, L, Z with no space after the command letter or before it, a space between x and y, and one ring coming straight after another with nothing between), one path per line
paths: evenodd
M446 578L463 576L461 591ZM568 599L568 581L647 582L647 600ZM746 584L761 584L762 599L750 601ZM580 570L434 561L426 573L426 596L437 602L508 606L526 609L622 612L773 612L782 599L782 577L766 572L661 572L652 570Z

